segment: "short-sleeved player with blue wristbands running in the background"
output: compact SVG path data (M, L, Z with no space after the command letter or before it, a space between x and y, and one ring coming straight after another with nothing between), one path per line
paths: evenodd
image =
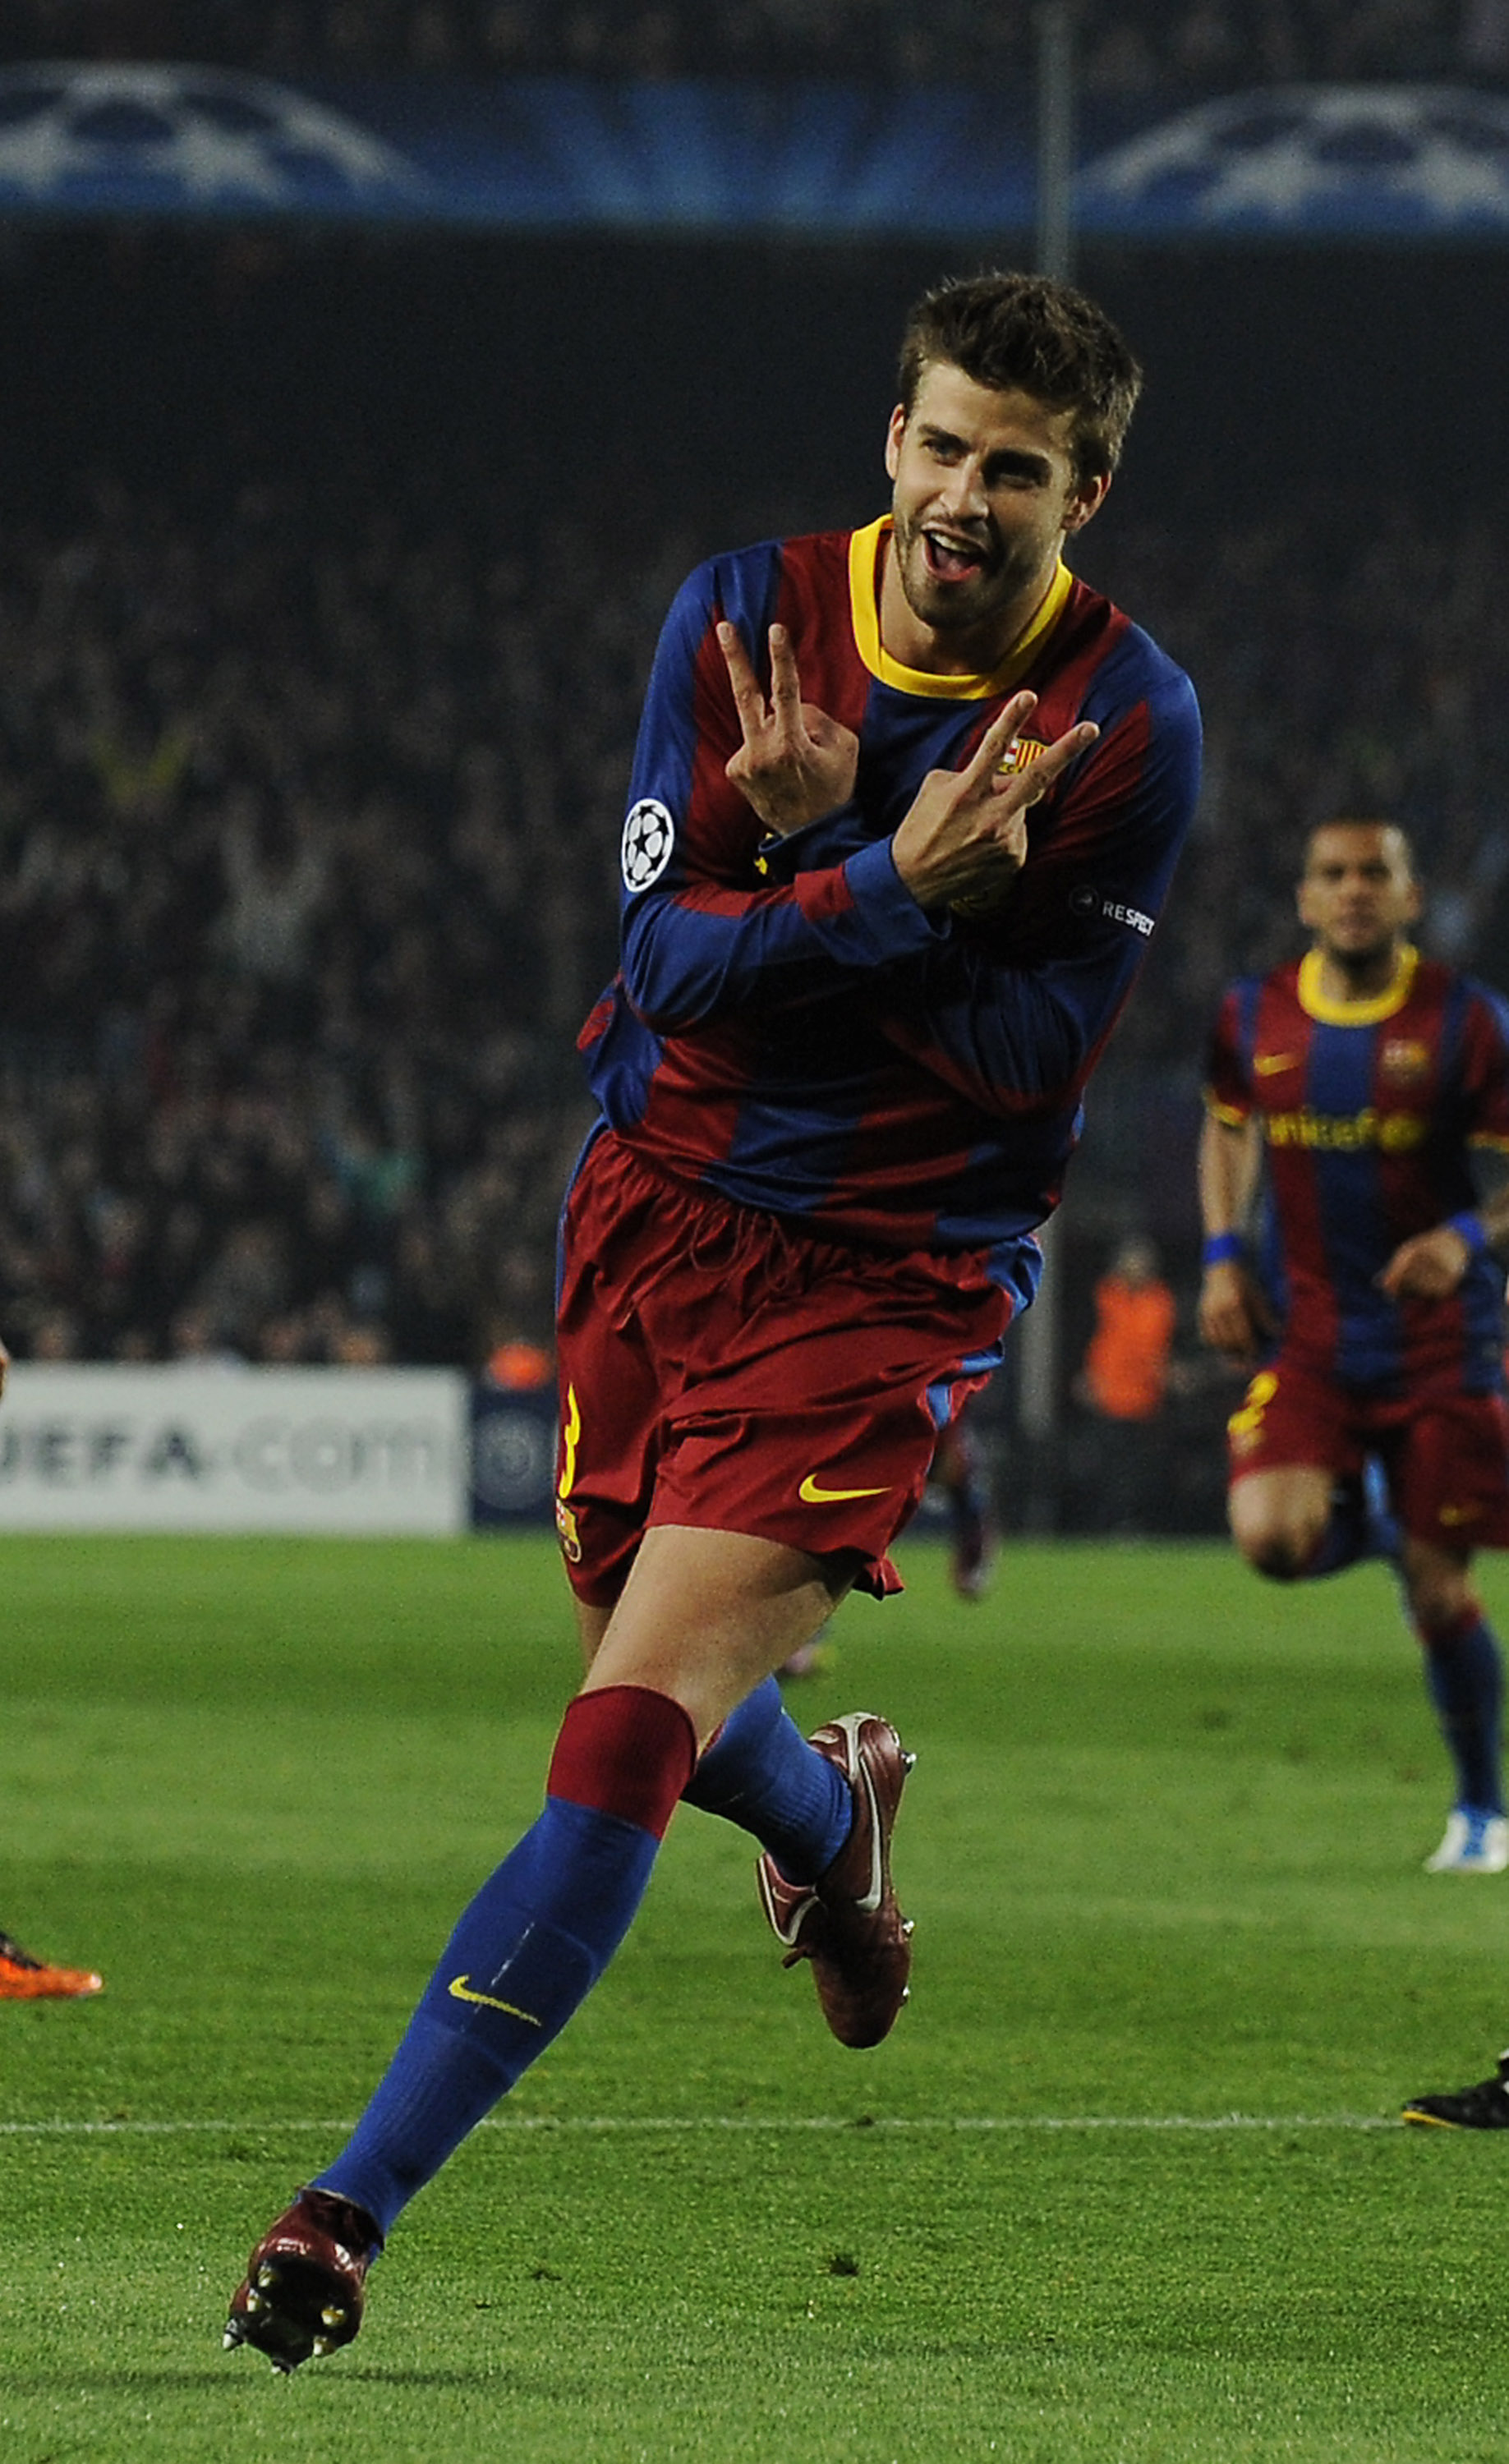
M1472 1148L1509 1151L1509 1010L1420 958L1418 914L1403 830L1312 833L1309 951L1235 983L1211 1050L1201 1333L1230 1360L1275 1345L1228 1424L1243 1557L1292 1582L1396 1555L1457 1781L1428 1863L1502 1873L1502 1656L1470 1562L1509 1547L1509 1190L1474 1195ZM1368 1510L1373 1466L1398 1535Z

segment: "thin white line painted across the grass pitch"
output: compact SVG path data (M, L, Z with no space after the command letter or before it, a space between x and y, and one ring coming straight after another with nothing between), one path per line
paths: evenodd
M750 2114L575 2114L555 2119L550 2114L508 2114L481 2122L483 2131L533 2131L535 2136L589 2136L616 2131L621 2136L663 2136L695 2131L764 2131L784 2136L789 2131L828 2131L863 2139L868 2131L1391 2131L1398 2129L1393 2114L782 2114L757 2119ZM190 2131L229 2131L232 2136L269 2136L286 2131L301 2136L350 2134L355 2122L0 2122L0 2139L178 2139Z

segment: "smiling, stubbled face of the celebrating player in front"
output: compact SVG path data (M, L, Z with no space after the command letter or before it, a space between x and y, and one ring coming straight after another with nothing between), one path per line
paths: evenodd
M999 394L934 360L910 416L890 416L895 577L915 623L937 633L1004 628L994 655L1026 623L1053 579L1065 530L1100 503L1070 458L1073 411L1033 394ZM900 653L905 655L905 650ZM981 665L994 658L981 660Z

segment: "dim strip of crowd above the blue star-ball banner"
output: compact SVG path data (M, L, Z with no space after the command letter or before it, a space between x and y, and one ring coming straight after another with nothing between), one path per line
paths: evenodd
M0 57L207 59L266 74L1021 81L1038 0L10 0ZM1509 0L1078 0L1085 91L1509 76Z

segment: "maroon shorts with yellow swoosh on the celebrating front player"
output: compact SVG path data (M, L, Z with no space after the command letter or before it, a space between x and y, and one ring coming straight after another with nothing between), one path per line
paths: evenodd
M937 1432L1001 1355L984 1252L814 1239L589 1148L562 1232L557 1523L607 1607L656 1523L752 1533L900 1589Z

